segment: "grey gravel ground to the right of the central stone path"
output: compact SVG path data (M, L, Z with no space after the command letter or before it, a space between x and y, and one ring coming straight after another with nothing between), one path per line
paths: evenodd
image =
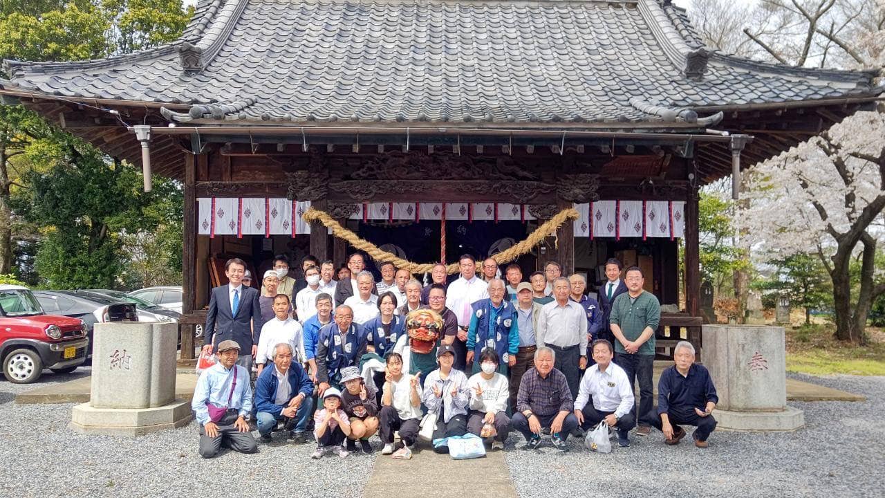
M519 495L532 498L885 496L885 377L792 377L863 394L867 401L791 402L804 410L799 431L717 431L704 450L690 437L666 447L654 429L648 437L631 434L627 448L612 440L609 455L591 454L577 439L569 440L565 455L547 441L527 452L517 435L517 448L508 447L505 460Z

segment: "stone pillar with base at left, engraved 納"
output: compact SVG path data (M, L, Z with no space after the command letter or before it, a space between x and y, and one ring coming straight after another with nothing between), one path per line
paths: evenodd
M138 436L181 427L188 401L175 399L175 323L96 323L88 403L74 407L78 432Z

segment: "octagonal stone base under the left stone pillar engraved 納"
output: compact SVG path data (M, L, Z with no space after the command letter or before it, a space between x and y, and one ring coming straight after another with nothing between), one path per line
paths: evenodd
M82 403L73 407L68 426L85 434L142 436L182 427L192 418L190 402L183 400L150 409L96 409L89 403Z

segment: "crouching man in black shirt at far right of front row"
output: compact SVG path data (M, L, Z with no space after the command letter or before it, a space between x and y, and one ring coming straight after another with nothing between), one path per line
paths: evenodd
M658 416L651 424L664 432L666 444L673 446L685 437L680 424L696 425L692 434L696 447L707 447L707 438L716 428L712 412L719 402L710 372L695 363L695 346L681 340L673 348L672 367L658 380ZM674 427L675 426L675 427Z

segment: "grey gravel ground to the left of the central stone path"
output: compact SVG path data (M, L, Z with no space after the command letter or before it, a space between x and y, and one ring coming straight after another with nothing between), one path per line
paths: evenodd
M0 379L0 496L354 497L374 463L374 455L311 460L315 444L282 442L282 432L270 445L258 443L257 455L226 450L204 460L195 422L137 439L87 436L67 428L73 404L15 404L18 393L82 375L47 373L37 385ZM377 439L373 444L380 449Z

